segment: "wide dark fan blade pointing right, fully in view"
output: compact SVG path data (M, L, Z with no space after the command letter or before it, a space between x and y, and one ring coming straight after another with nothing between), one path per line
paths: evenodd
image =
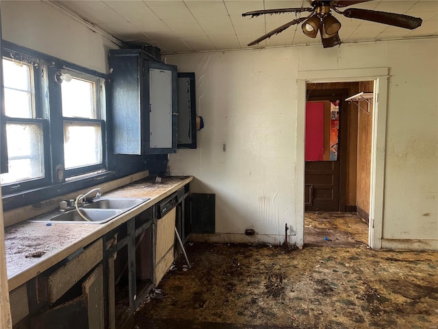
M365 21L403 27L404 29L415 29L422 25L423 22L419 17L357 8L346 9L342 14L350 19L364 19Z

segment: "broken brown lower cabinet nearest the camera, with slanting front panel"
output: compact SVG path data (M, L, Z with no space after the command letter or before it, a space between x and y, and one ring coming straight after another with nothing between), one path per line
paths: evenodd
M15 329L105 326L99 239L10 293Z

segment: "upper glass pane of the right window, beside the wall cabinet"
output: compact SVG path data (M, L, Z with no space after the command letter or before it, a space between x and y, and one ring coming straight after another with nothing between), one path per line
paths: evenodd
M94 110L94 83L75 77L62 82L62 115L70 118L97 119Z

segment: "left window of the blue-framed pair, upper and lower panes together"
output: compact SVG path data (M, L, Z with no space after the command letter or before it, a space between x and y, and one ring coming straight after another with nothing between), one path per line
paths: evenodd
M38 118L35 71L38 61L3 58L8 173L1 184L44 178L44 121Z

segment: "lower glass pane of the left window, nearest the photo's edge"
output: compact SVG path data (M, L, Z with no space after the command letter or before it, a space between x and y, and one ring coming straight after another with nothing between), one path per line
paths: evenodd
M8 173L1 174L1 184L44 177L42 125L7 123Z

